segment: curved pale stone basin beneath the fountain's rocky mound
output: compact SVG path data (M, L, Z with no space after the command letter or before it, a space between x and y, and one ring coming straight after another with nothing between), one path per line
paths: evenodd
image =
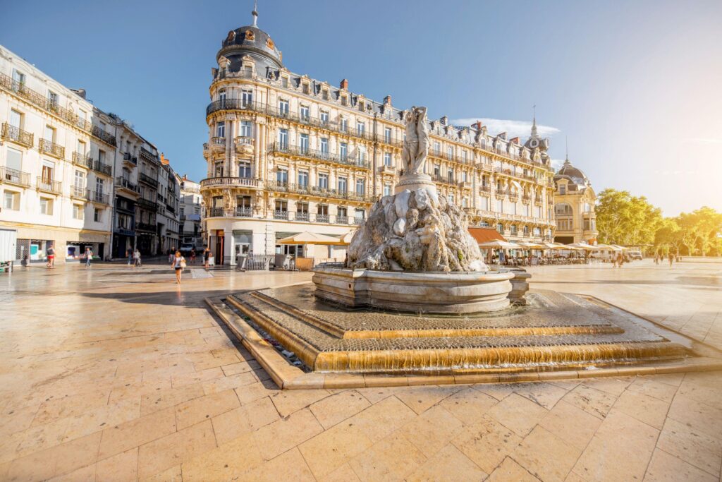
M316 297L351 307L450 314L509 306L513 272L396 272L321 266Z

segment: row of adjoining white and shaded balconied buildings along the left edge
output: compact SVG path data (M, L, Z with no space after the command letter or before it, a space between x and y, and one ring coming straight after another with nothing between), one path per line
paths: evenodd
M158 191L175 173L157 148L2 46L0 129L0 225L17 230L18 260L42 262L51 245L58 262L86 247L103 259L136 246L156 254L158 210L177 243L178 189L167 188L170 200Z

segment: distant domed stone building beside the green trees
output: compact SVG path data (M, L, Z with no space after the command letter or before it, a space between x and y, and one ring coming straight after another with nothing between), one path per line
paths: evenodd
M554 176L557 191L554 194L554 218L557 231L554 241L558 243L595 244L596 194L587 176L575 168L569 159Z

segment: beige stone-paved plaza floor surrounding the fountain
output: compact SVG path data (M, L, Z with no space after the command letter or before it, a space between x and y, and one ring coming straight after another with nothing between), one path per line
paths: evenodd
M717 481L719 371L279 390L204 300L308 272L0 278L0 480ZM531 267L722 349L722 264Z

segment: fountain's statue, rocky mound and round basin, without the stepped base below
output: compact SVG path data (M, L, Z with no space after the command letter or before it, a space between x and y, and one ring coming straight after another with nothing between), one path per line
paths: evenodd
M509 306L510 272L490 272L466 213L439 197L423 172L426 108L406 114L404 174L374 203L349 246L345 267L314 270L318 298L347 306L424 313L475 313Z

